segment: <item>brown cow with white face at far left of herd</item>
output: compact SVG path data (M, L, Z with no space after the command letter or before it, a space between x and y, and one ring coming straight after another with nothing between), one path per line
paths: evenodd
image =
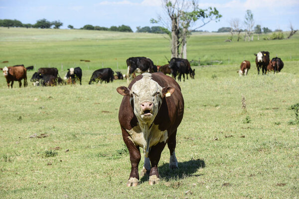
M2 69L3 75L6 78L7 86L9 89L9 83L11 82L11 89L13 85L13 81L18 81L19 82L19 87L22 86L21 80L24 79L24 87L27 86L27 70L23 66L9 66L9 67L4 67Z

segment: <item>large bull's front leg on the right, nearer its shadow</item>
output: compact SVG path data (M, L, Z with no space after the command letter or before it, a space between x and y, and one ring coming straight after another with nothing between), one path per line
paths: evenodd
M151 164L151 169L149 172L149 185L158 184L160 182L158 163L161 157L161 153L165 147L164 142L160 142L155 146L152 146L149 152L149 160Z

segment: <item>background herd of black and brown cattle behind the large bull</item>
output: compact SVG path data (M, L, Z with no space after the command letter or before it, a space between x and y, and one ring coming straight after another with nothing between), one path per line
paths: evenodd
M260 51L256 56L256 66L258 74L260 74L260 69L262 69L263 75L267 73L274 72L278 73L284 67L284 62L279 57L274 57L270 59L270 53L268 51ZM90 60L81 60L88 61ZM185 75L188 80L188 75L191 79L194 79L195 69L191 69L190 63L187 59L182 58L171 58L168 64L163 66L156 66L147 57L130 57L127 59L127 75L123 75L121 72L116 72L111 68L102 68L93 72L88 84L93 82L113 82L113 80L123 80L127 79L128 83L130 80L136 77L135 73L155 73L162 72L164 75L169 74L174 78L174 80L181 81L181 76L183 76L183 81L185 81ZM2 62L8 63L8 61ZM250 69L250 61L244 60L241 63L240 70L237 72L240 76L247 76ZM33 66L24 67L24 65L14 65L9 67L0 68L3 71L3 75L6 78L7 86L12 88L13 81L18 81L19 86L21 86L21 80L24 79L24 87L27 86L27 76L26 71L33 70ZM36 73L33 74L31 80L33 86L57 86L66 84L76 84L79 82L82 85L82 69L80 67L70 68L65 74L64 80L59 76L57 68L39 68ZM11 82L11 85L9 85Z

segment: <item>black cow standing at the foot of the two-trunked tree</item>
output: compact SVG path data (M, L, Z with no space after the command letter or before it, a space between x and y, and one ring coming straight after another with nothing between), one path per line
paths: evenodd
M183 75L183 79L185 81L185 74L188 80L188 74L192 79L195 76L195 69L192 70L190 67L190 63L187 59L181 58L171 58L169 62L169 68L171 69L171 75L175 79L178 74L177 80L181 81L181 75Z

